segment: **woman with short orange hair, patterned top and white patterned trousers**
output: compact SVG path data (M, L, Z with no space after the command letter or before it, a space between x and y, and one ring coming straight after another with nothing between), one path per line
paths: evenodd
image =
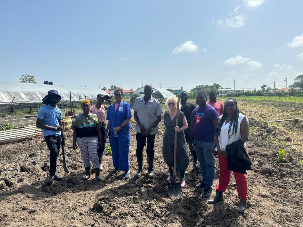
M94 113L89 112L91 103L89 100L81 102L82 114L79 114L72 123L73 148L80 148L80 153L85 167L85 175L82 179L86 180L91 176L91 162L95 169L96 178L100 180L100 163L97 156L98 145L102 146L101 127L102 123ZM99 138L99 141L98 141ZM77 144L76 144L77 141Z

